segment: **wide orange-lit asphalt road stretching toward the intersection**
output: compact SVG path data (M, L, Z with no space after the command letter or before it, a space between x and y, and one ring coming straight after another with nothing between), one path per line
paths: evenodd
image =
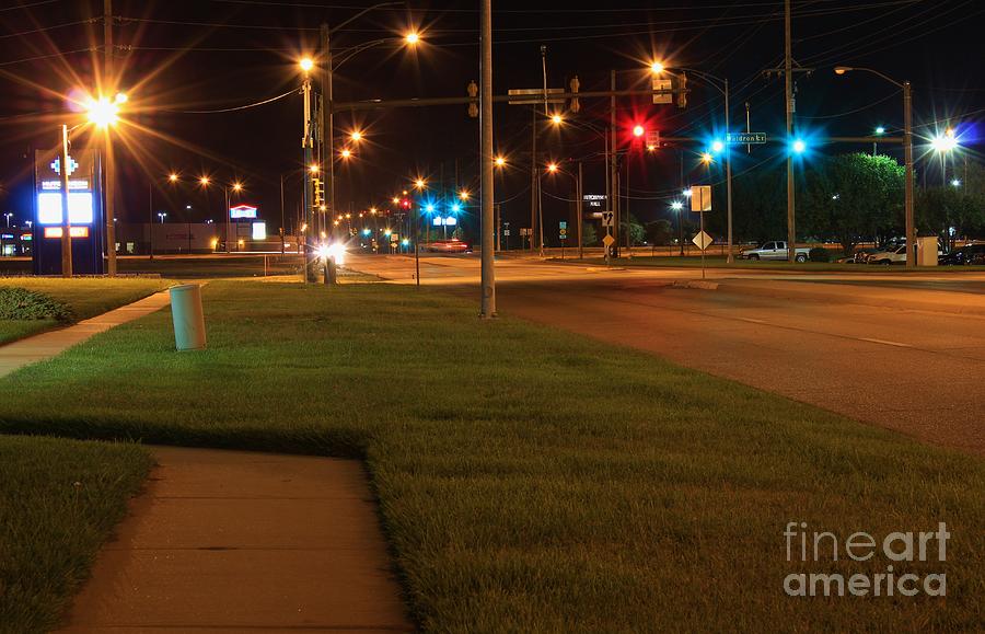
M413 283L406 257L351 267ZM475 257L426 257L421 283L478 299ZM985 454L985 274L610 270L497 263L497 308L657 353L922 440Z

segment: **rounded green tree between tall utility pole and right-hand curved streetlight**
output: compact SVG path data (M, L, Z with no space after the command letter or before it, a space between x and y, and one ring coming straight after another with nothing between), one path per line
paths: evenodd
M822 159L808 169L798 196L800 233L834 238L845 254L865 238L903 233L903 166L862 153Z

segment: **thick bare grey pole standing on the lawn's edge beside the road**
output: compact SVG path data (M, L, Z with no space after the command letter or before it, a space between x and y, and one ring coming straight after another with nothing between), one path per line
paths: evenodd
M479 154L483 175L483 319L496 316L496 268L493 232L493 0L483 0L482 16L482 142ZM534 128L536 134L536 128Z

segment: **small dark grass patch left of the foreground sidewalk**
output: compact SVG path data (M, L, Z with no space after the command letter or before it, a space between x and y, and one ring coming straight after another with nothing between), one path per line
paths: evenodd
M0 436L0 632L58 625L150 465L138 445Z

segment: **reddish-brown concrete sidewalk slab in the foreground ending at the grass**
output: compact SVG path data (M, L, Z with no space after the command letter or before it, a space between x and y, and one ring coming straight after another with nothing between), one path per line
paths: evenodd
M160 447L62 632L406 632L358 461Z

